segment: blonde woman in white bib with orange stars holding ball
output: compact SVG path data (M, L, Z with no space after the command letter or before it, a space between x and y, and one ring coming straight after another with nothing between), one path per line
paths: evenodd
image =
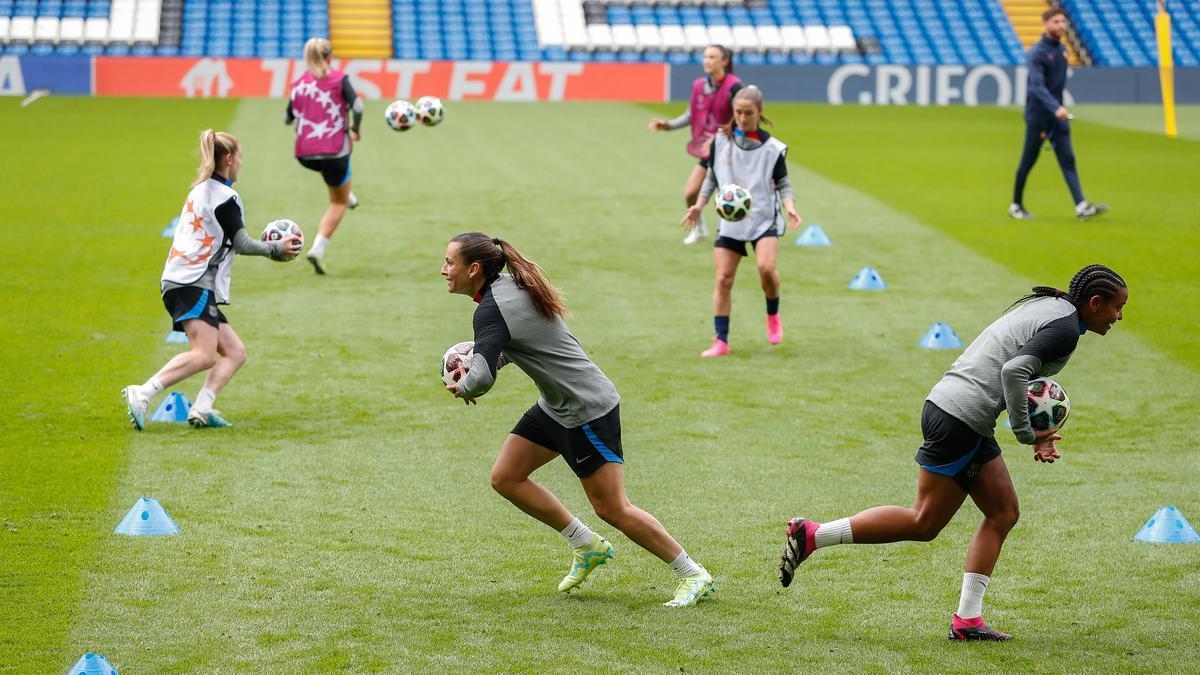
M221 389L246 363L246 347L220 305L229 304L234 252L287 262L300 253L300 237L259 241L242 226L241 196L233 189L241 171L241 145L233 135L200 133L200 168L179 215L162 270L162 304L175 330L187 334L188 351L176 354L145 382L121 393L139 431L146 408L163 389L209 371L187 413L192 426L230 426L212 410Z

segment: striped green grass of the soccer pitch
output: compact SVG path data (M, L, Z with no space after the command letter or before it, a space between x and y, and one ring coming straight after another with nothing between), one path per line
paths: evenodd
M276 101L4 101L8 156L24 160L0 169L0 670L61 671L85 651L128 673L1194 668L1200 546L1130 539L1163 504L1200 525L1200 145L1076 121L1084 187L1112 213L1075 221L1045 154L1026 199L1038 220L1016 222L1018 110L768 102L798 210L834 246L782 243L778 347L748 261L733 354L702 362L712 256L679 244L684 138L643 129L677 108L457 103L443 126L396 135L368 106L362 207L331 274L235 264L227 315L250 360L217 402L235 428L136 434L118 392L175 351L160 232L198 131L241 138L251 229L290 217L311 239L324 189L290 157ZM533 386L505 369L467 408L434 371L474 309L445 293L444 245L476 228L565 292L623 395L630 497L712 571L710 602L660 607L666 567L553 462L536 478L617 548L562 596L565 544L492 492ZM924 330L944 321L970 340L1091 262L1122 273L1130 301L1058 376L1074 402L1063 459L1037 465L997 434L1024 513L985 616L1016 639L946 640L970 503L932 543L823 550L782 591L786 518L911 502L922 400L958 353L918 350ZM886 292L846 289L864 265ZM143 495L179 536L110 533Z

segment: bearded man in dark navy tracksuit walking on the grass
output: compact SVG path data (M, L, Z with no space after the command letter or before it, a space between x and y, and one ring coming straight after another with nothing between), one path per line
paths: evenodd
M1067 16L1058 8L1046 10L1042 14L1045 22L1045 35L1037 41L1028 54L1028 84L1025 94L1025 149L1021 151L1021 163L1016 167L1016 184L1013 186L1013 203L1008 215L1024 220L1033 215L1025 210L1022 195L1025 180L1030 169L1038 161L1042 139L1050 141L1062 177L1067 179L1070 196L1075 199L1075 217L1087 220L1109 210L1104 204L1092 204L1084 198L1084 189L1079 185L1079 173L1075 172L1075 151L1070 147L1070 112L1062 104L1062 90L1067 84L1067 48L1062 36L1067 32Z

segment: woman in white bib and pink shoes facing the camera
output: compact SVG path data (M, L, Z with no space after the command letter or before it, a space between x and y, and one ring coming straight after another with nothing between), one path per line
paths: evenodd
M796 195L787 178L787 145L761 127L770 124L762 114L762 90L749 85L733 96L732 132L722 131L713 139L712 151L700 161L707 169L704 185L696 203L688 208L683 226L695 228L708 197L720 186L734 183L745 187L751 196L750 213L737 222L721 220L713 249L713 265L716 268L716 288L713 291L713 324L716 335L713 346L701 352L702 357L724 357L730 353L730 310L733 276L738 263L746 256L746 243L754 247L758 263L758 281L767 295L767 339L772 345L784 340L784 323L779 317L779 271L775 255L779 238L784 234L784 219L779 207L787 214L787 227L799 227L796 213Z

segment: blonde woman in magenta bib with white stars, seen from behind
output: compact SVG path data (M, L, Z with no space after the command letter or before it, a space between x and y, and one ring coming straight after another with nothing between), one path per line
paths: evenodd
M325 274L325 247L342 222L346 209L359 205L350 192L350 150L362 136L362 100L350 85L349 76L334 70L329 59L334 47L324 37L313 37L304 46L308 72L292 83L284 124L296 126L296 161L319 172L329 189L329 208L320 217L317 239L306 257L317 274ZM347 124L347 115L354 120Z

